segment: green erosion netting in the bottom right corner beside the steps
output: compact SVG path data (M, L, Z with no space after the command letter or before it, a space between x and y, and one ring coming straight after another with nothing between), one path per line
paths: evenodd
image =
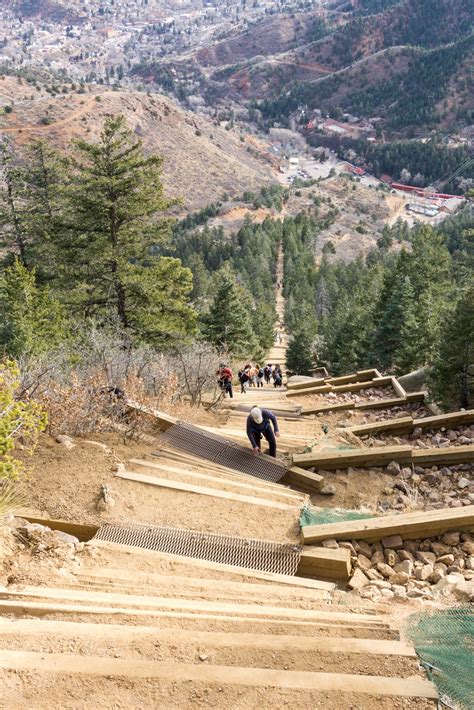
M474 607L418 612L407 635L436 684L440 701L457 710L474 708Z

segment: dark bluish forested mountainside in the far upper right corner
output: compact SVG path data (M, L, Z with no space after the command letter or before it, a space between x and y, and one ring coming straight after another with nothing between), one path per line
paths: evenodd
M264 117L283 123L305 104L381 117L384 128L402 132L469 120L472 6L402 0L336 10L264 20L192 61L136 71L184 101L189 80L210 105L268 100Z

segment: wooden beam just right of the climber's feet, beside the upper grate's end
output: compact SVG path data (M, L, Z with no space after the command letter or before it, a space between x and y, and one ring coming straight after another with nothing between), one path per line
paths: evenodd
M439 449L437 449L439 451ZM410 463L411 446L379 446L345 451L312 451L309 454L294 454L293 465L302 468L316 466L320 469L383 466L390 461Z

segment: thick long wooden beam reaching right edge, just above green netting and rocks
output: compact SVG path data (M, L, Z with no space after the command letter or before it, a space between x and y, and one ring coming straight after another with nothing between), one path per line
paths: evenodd
M463 508L385 515L327 525L307 525L301 534L305 545L314 545L327 539L378 542L390 535L400 535L405 540L413 540L442 535L449 530L473 529L474 505L468 505Z

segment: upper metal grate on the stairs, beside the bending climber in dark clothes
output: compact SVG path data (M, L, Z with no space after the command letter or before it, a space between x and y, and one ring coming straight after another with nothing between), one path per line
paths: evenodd
M198 458L273 483L283 478L288 471L287 466L276 459L255 456L249 448L241 444L184 422L173 424L160 436L160 441Z

